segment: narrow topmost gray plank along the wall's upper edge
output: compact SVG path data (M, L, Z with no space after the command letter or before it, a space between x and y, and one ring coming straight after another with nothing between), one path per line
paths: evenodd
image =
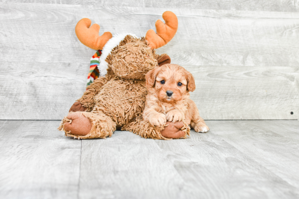
M188 8L188 9L214 9L214 10L252 10L252 11L276 11L298 12L297 0L1 0L0 2L14 3L42 3L42 4L71 4L94 5L103 8L109 7L145 7L145 8Z

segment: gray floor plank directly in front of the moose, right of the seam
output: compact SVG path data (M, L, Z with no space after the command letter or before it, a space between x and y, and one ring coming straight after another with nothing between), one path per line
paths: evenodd
M82 140L81 198L171 198L184 187L154 140L127 131L111 138Z

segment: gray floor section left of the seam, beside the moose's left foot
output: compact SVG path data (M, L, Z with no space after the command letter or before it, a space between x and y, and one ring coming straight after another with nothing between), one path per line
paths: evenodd
M0 120L0 198L76 198L81 140L59 121Z

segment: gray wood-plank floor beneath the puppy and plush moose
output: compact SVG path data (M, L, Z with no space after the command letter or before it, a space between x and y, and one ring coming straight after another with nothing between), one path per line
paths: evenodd
M0 120L0 198L299 198L298 120L208 120L184 140L74 140Z

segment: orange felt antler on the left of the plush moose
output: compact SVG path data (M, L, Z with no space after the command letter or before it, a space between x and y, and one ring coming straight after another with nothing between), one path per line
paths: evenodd
M105 32L102 36L99 36L100 26L96 23L92 26L90 25L90 19L81 19L75 28L76 35L85 46L94 50L102 50L106 42L112 38L112 34L110 32Z

